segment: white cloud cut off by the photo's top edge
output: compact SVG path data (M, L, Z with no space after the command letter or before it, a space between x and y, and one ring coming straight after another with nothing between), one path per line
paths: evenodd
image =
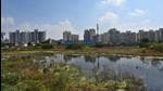
M101 1L102 4L111 4L111 5L116 5L116 6L120 6L125 2L126 0L102 0Z

